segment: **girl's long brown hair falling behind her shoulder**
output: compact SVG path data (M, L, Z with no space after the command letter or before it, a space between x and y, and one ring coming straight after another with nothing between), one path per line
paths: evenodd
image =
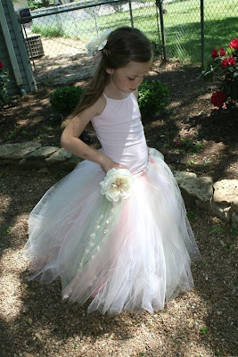
M107 69L115 70L125 67L132 61L148 62L152 59L152 45L149 39L139 29L129 27L112 31L101 52L102 58L94 71L93 78L86 86L85 95L71 115L73 118L93 105L103 94L103 89L110 80Z

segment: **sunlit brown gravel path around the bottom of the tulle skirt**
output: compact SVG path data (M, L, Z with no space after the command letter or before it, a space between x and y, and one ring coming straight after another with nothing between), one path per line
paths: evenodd
M117 316L87 314L64 303L58 281L28 281L21 248L30 210L59 173L1 169L1 356L237 356L237 236L207 212L189 212L202 261L193 291L164 311Z

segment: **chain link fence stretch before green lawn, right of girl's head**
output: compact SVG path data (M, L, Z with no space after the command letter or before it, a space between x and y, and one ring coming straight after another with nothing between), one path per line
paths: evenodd
M237 0L158 0L160 4L168 58L203 65L212 48L227 46L238 35Z

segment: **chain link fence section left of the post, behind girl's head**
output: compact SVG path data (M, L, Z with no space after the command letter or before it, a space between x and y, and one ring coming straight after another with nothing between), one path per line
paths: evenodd
M86 53L86 43L105 29L141 29L158 51L158 19L154 2L84 2L32 11L31 21L23 23L22 30L37 82L57 84L88 77L93 63Z

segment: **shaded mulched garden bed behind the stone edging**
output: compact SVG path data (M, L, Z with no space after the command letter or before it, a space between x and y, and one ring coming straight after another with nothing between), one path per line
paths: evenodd
M215 109L209 98L217 86L202 82L199 75L196 67L154 63L148 78L168 85L170 104L158 117L143 117L148 145L165 154L166 161L176 170L209 175L214 181L234 179L238 172L238 112ZM40 86L37 93L18 98L2 112L0 144L37 141L60 145L64 118L53 112L50 104L53 88ZM93 132L85 139L99 147Z

